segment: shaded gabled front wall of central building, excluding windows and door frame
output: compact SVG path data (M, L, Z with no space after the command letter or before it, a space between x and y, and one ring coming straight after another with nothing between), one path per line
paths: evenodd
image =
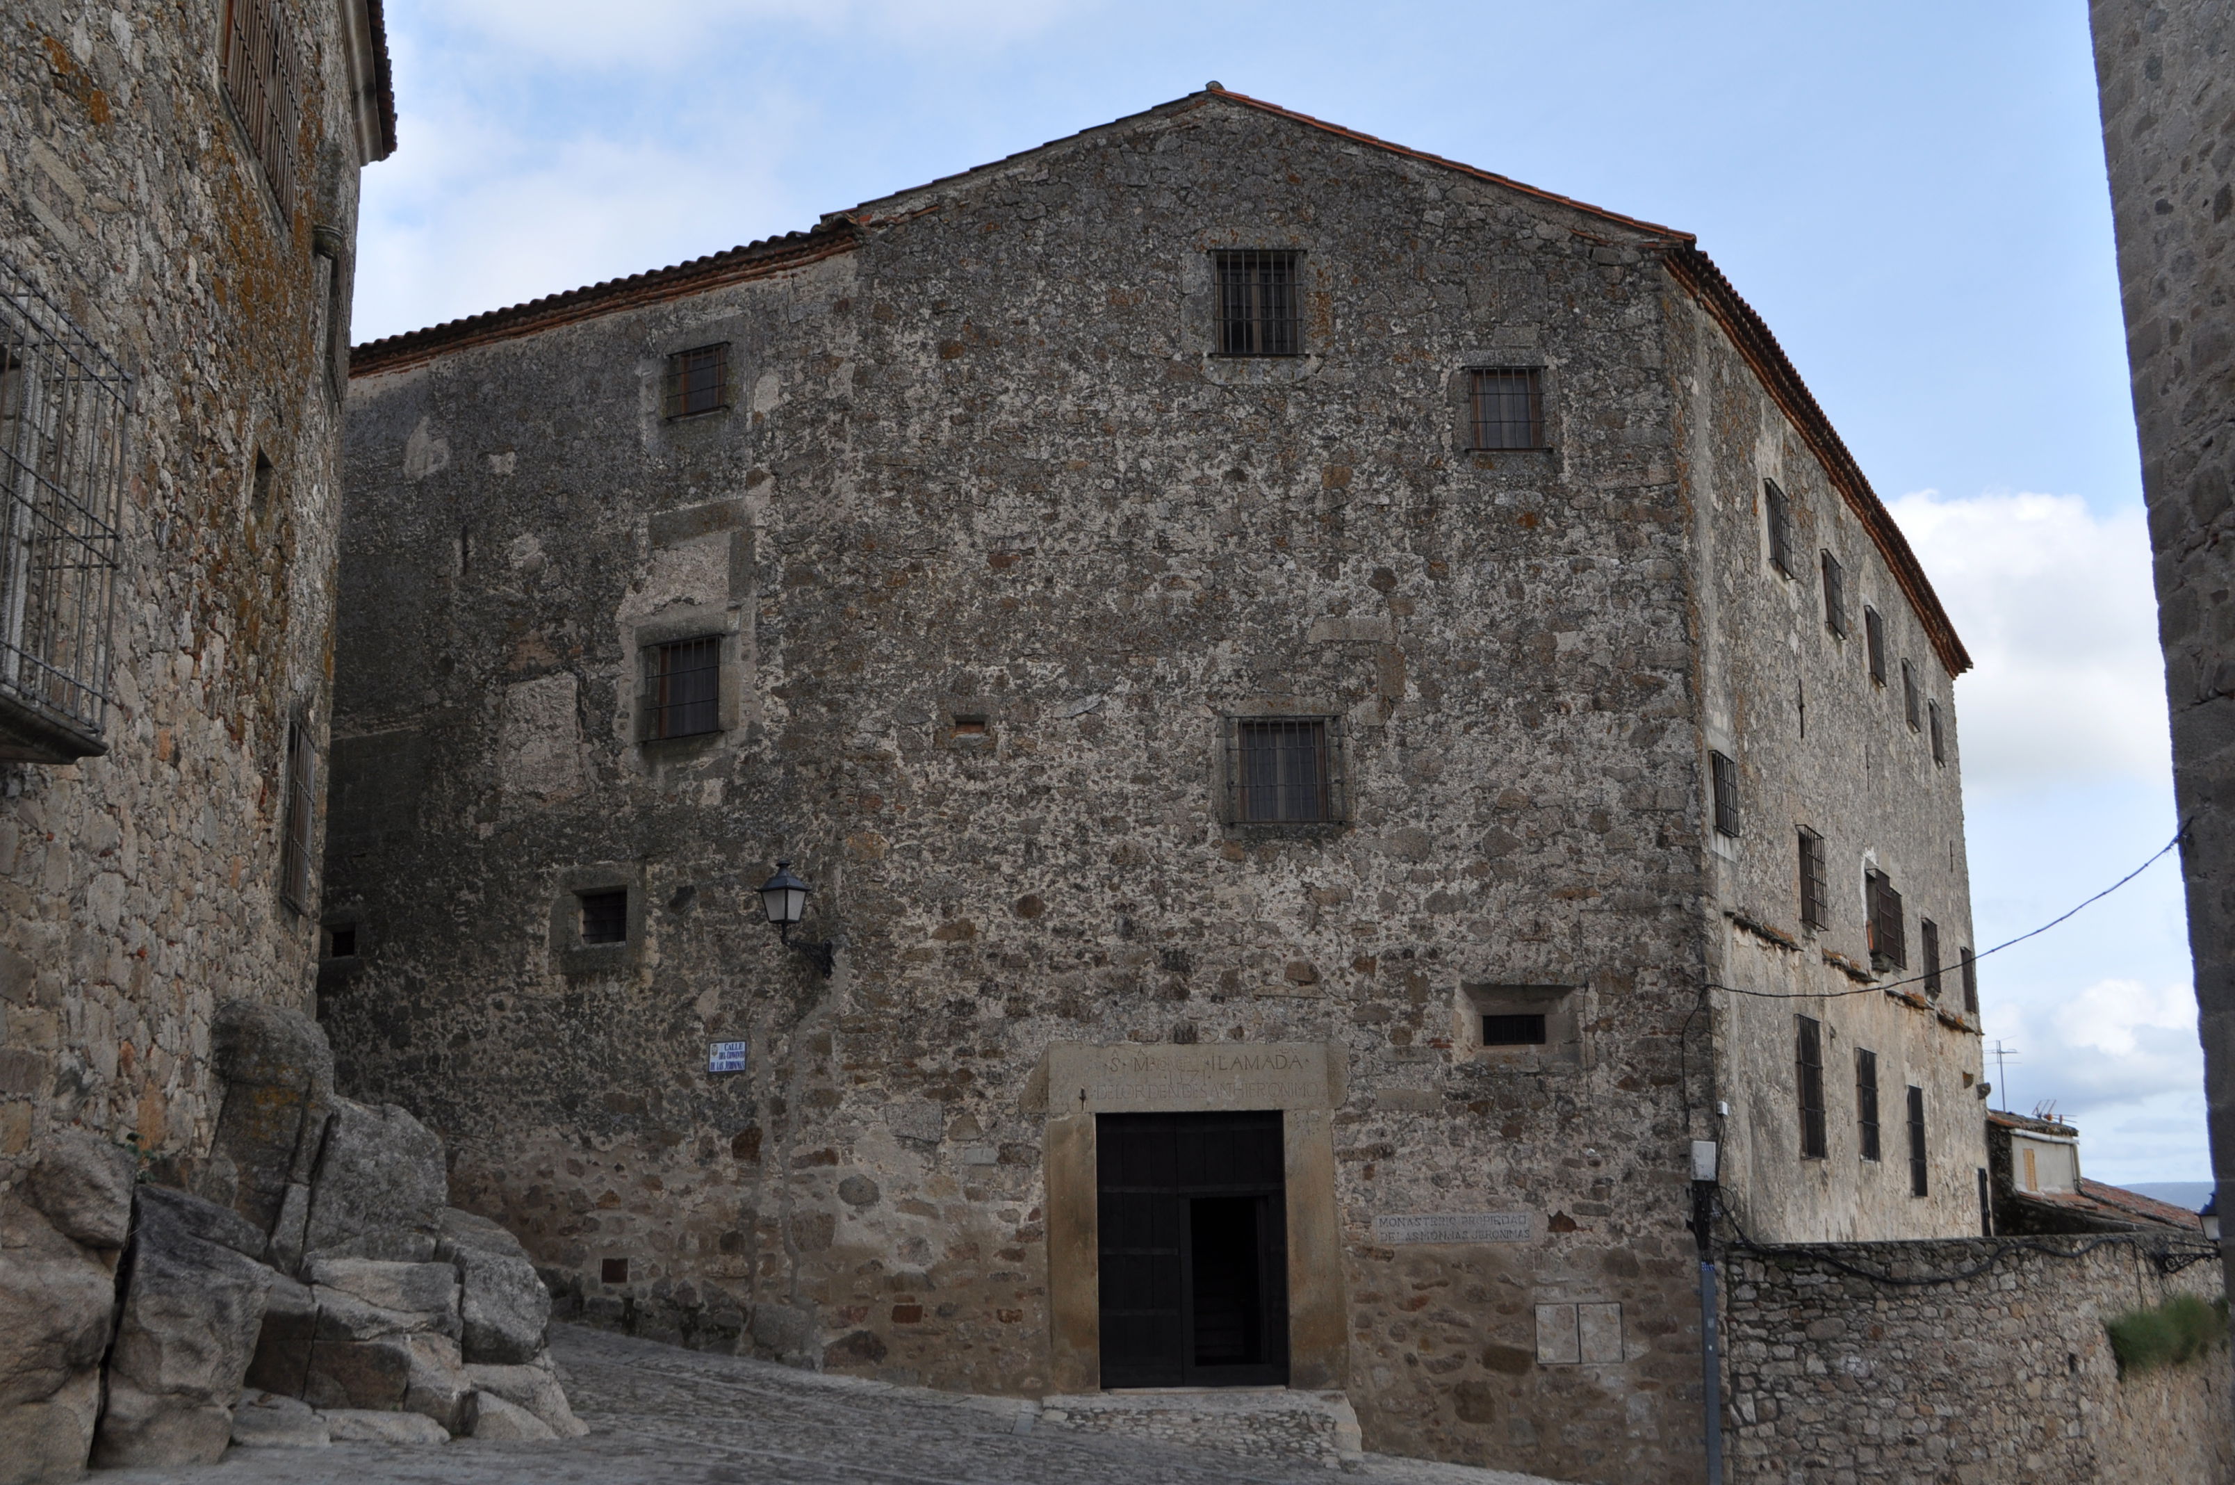
M1328 1042L1366 1445L1696 1478L1654 237L1216 98L860 217L355 378L344 1085L420 1109L592 1317L1046 1393L1048 1044ZM1223 246L1305 253L1307 356L1207 353ZM708 342L735 407L664 423ZM1468 365L1544 367L1551 452L1464 452ZM637 742L637 651L691 633L724 729ZM1343 720L1348 821L1223 823L1247 711ZM780 854L827 982L751 899ZM570 937L599 886L626 946ZM1480 1049L1484 984L1573 986L1573 1040ZM1529 1239L1375 1239L1482 1210ZM1578 1306L1589 1360L1542 1328Z

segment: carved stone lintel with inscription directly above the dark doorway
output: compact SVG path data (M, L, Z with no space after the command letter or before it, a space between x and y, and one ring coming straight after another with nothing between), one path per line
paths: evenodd
M1341 1051L1325 1042L1048 1047L1050 1114L1332 1109ZM1334 1076L1330 1076L1334 1073Z

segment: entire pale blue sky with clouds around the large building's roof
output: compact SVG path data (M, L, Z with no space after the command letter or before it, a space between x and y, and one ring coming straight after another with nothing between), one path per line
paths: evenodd
M358 338L1227 87L1701 237L1933 575L1978 939L2175 827L2083 0L389 0ZM2177 870L1980 966L2014 1107L2206 1179ZM1989 1073L1991 1076L1991 1073ZM2000 1098L1996 1100L2000 1103Z

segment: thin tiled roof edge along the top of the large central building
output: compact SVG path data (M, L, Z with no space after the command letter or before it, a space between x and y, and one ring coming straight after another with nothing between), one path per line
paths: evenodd
M1265 103L1263 98L1252 98L1247 94L1229 92L1218 83L1211 83L1202 92L1187 94L1185 98L1173 98L1171 103L1160 103L1158 107L1142 110L1140 114L1126 114L1124 119L1113 119L1111 123L1100 123L1091 130L1080 130L1064 139L1035 145L1030 150L1019 150L1004 159L961 170L957 174L945 174L923 186L910 190L896 190L883 197L874 197L843 212L829 212L811 233L789 233L784 237L769 237L764 242L746 244L740 248L729 248L726 253L713 253L686 264L675 264L670 268L655 268L650 273L635 273L624 280L608 280L603 284L590 284L586 289L574 289L568 293L554 293L527 304L514 304L510 309L494 309L483 315L472 315L467 320L451 320L447 324L436 324L422 331L411 331L405 335L389 335L387 340L373 340L369 344L353 347L349 353L351 376L378 376L382 371L398 371L402 367L413 367L431 360L445 351L456 351L474 344L489 344L494 340L512 340L516 335L532 335L557 324L568 324L574 320L588 320L592 315L606 315L624 309L637 309L641 304L657 304L664 300L677 300L691 293L702 293L720 284L733 284L749 277L762 277L769 273L780 273L784 268L796 268L818 257L829 257L834 253L845 253L858 242L858 233L874 230L892 219L892 208L905 204L910 197L921 197L923 192L954 186L988 172L1012 168L1021 161L1039 157L1048 150L1064 148L1073 141L1088 139L1095 134L1106 134L1124 130L1144 119L1176 116L1193 112L1209 103L1227 103L1236 107L1256 110L1272 114L1276 119L1287 119L1301 127L1323 130L1339 139L1350 139L1354 143L1386 150L1390 154L1424 161L1457 174L1473 177L1477 181L1491 181L1506 190L1533 197L1549 206L1560 206L1585 217L1596 217L1609 226L1625 233L1640 235L1647 246L1658 248L1663 264L1676 284L1696 300L1723 333L1739 347L1739 353L1754 369L1763 389L1779 405L1786 418L1799 429L1801 438L1808 443L1810 452L1822 461L1833 485L1846 499L1848 510L1862 521L1864 532L1877 546L1886 566L1893 570L1895 581L1909 597L1911 608L1924 624L1924 633L1940 655L1940 664L1947 666L1949 675L1960 675L1971 669L1971 655L1965 651L1962 640L1956 637L1956 624L1949 619L1947 611L1940 606L1940 597L1933 593L1931 579L1924 577L1924 566L1918 555L1909 548L1909 539L1902 537L1902 528L1895 526L1893 514L1886 510L1877 492L1871 490L1871 481L1864 476L1862 465L1848 452L1839 432L1817 407L1815 396L1801 380L1801 373L1786 358L1784 347L1777 344L1777 335L1763 324L1761 315L1754 313L1752 304L1739 297L1723 277L1723 271L1699 250L1699 239L1692 233L1658 226L1654 221L1643 221L1638 217L1625 217L1611 212L1602 206L1591 206L1587 201L1576 201L1573 197L1562 197L1535 186L1527 186L1504 174L1491 170L1480 170L1475 165L1464 165L1459 161L1444 159L1442 154L1428 154L1426 150L1410 150L1406 145L1390 143L1386 139L1375 139L1372 134L1361 134L1357 130L1345 130L1341 125L1314 119L1310 114L1299 114L1294 110L1281 107L1276 103ZM901 212L910 215L910 212Z

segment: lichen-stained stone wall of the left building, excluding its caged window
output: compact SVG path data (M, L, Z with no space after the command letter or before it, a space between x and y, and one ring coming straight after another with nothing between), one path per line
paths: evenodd
M346 282L313 228L353 239L360 157L342 7L282 9L293 221L224 98L221 4L29 0L0 29L0 253L136 378L107 754L0 765L4 1156L74 1123L203 1147L217 1000L311 991L315 919L277 874L288 716L324 745L335 597Z

